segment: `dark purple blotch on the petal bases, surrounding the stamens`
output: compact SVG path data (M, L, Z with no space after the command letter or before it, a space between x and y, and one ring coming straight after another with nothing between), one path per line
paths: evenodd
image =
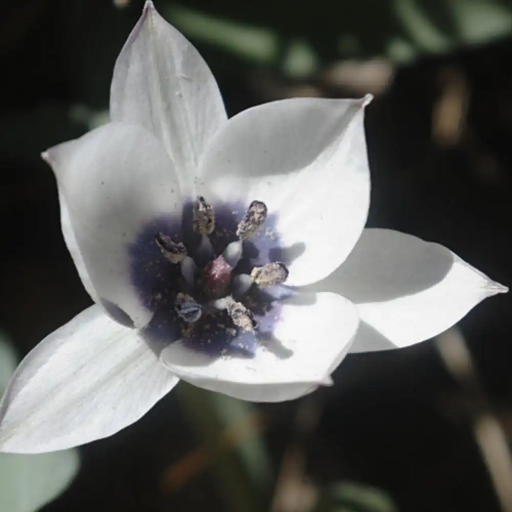
M221 254L230 242L238 240L237 226L247 207L241 203L214 204L215 230L209 239L216 255ZM250 273L254 266L282 261L272 258L281 250L279 233L275 231L276 221L276 215L269 215L258 232L244 241L243 258L234 273ZM141 331L148 344L163 346L182 339L190 350L212 357L252 357L260 343L258 338L271 336L280 315L279 301L292 295L293 289L285 286L272 287L273 291L251 289L246 298L251 299L254 317L259 324L254 333L237 328L236 334L229 335L227 329L235 327L225 311L203 313L197 322L187 324L175 311L176 295L187 287L179 265L173 265L163 257L155 242L157 232L167 235L173 242L183 242L188 253L193 255L200 241L200 236L193 231L193 203L183 206L181 216L162 216L148 222L128 248L132 283L142 304L154 312L150 324ZM190 293L194 296L193 291ZM247 306L247 301L242 302Z

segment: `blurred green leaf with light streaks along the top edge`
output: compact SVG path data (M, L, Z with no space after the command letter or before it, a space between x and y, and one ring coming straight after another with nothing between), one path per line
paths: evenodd
M327 0L301 10L291 0L243 10L234 0L166 6L162 13L193 41L297 78L312 75L321 61L386 55L403 63L512 35L512 2L505 0L358 0L343 17L329 16Z

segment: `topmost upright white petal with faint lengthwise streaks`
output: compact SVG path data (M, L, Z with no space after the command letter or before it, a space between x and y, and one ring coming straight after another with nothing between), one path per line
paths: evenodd
M110 115L140 124L162 141L183 191L193 185L205 144L227 119L206 62L151 2L117 58Z

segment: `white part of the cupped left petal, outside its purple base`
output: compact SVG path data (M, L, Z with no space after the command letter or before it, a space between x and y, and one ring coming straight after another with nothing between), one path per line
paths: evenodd
M142 127L110 123L43 157L57 176L63 231L86 289L146 324L152 312L132 284L141 269L131 248L155 219L178 221L182 207L162 145Z

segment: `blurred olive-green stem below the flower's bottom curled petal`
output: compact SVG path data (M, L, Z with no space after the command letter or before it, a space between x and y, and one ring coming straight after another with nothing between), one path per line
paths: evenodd
M268 489L270 461L259 430L251 421L257 412L254 406L185 382L177 390L196 434L211 457L212 474L226 509L263 512L262 496ZM229 430L230 435L226 436L230 427L243 432ZM238 442L230 450L233 436Z

